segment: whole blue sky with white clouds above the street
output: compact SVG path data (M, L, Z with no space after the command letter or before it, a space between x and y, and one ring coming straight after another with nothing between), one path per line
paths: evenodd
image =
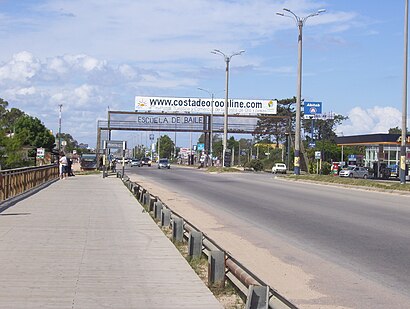
M326 9L303 27L302 98L349 117L338 135L387 133L401 127L404 3L0 0L0 97L54 133L62 104L61 131L91 147L97 121L108 109L133 111L135 96L206 96L200 87L223 97L214 49L245 50L230 62L230 97L291 98L298 29L276 12Z

